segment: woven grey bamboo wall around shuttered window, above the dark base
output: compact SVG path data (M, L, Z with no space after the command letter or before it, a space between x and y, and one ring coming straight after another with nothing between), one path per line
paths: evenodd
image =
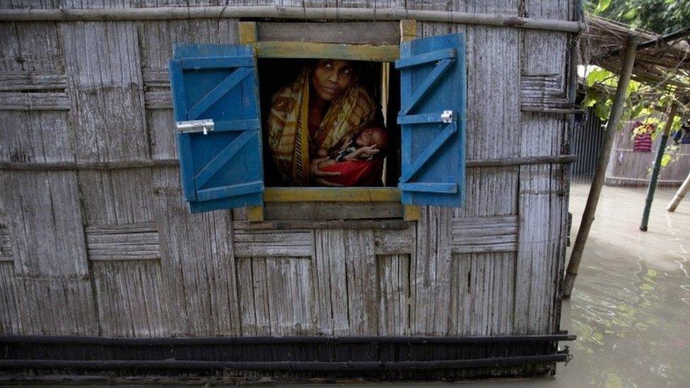
M573 20L571 3L305 6L407 4ZM81 1L0 4L87 7ZM129 6L156 2L88 3ZM574 36L417 25L419 37L453 32L467 37L468 160L567 154L570 118L553 109L568 103ZM0 162L73 166L0 170L0 333L558 331L567 165L469 167L465 208L423 208L420 221L403 229L259 231L238 222L242 211L189 214L174 164L119 168L128 160L176 157L166 66L172 42L187 41L235 43L238 20L0 22Z

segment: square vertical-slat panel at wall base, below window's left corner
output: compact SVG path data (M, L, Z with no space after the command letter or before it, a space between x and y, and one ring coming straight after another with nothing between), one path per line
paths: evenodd
M310 257L238 259L243 335L316 334Z

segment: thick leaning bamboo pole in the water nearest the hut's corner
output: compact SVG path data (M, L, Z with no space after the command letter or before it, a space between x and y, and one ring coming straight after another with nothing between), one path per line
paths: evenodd
M622 70L619 76L618 86L616 87L614 105L609 115L609 122L606 126L606 132L604 132L602 148L597 158L597 170L595 170L594 180L592 180L590 194L587 196L587 204L585 205L582 222L580 223L580 230L578 230L578 237L575 239L575 245L573 245L571 261L568 263L568 269L566 270L566 279L563 281L563 298L570 298L573 292L573 284L575 284L575 277L578 276L578 268L580 267L580 261L582 260L583 251L585 249L585 242L587 242L587 236L590 234L590 228L592 228L592 223L594 222L599 196L602 194L602 186L604 185L604 177L606 176L606 166L609 163L609 156L611 155L616 128L621 119L623 105L626 100L626 90L628 90L633 64L635 64L637 45L638 42L635 38L628 36L624 56L621 60Z

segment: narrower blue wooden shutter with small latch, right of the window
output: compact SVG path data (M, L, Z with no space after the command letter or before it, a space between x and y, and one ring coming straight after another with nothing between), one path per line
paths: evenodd
M400 46L404 204L462 206L465 165L464 35L404 42ZM490 98L490 96L486 96Z

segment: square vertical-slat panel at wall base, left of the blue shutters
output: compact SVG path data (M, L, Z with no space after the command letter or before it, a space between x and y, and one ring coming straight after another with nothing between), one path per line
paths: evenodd
M93 261L100 335L165 336L160 261Z

